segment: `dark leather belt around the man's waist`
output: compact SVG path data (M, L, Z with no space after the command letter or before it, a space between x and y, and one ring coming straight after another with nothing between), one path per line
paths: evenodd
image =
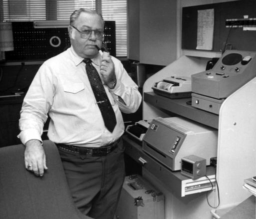
M92 157L101 157L106 156L114 149L117 148L118 143L120 142L120 138L109 145L105 145L102 147L77 147L74 145L65 145L65 144L56 144L57 148L63 151L72 152L79 155L91 155Z

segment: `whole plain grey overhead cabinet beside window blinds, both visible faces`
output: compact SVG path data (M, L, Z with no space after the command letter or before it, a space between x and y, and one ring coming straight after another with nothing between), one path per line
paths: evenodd
M176 59L176 0L127 0L128 58L167 65Z

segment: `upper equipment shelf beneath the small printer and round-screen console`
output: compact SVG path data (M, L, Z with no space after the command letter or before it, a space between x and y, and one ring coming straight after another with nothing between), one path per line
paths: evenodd
M144 101L146 103L218 129L218 115L188 105L186 102L190 100L191 98L169 99L154 92L144 92Z

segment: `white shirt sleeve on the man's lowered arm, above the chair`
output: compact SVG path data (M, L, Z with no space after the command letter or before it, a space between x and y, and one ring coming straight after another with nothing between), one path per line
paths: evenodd
M24 97L20 111L18 138L25 144L31 139L41 141L43 125L52 105L54 86L50 69L42 64Z

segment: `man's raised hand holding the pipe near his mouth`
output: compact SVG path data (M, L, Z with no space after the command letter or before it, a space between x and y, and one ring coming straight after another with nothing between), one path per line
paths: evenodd
M102 75L102 80L110 88L114 88L113 84L116 83L116 77L114 74L114 63L108 52L103 52L101 64L100 64L100 74Z

